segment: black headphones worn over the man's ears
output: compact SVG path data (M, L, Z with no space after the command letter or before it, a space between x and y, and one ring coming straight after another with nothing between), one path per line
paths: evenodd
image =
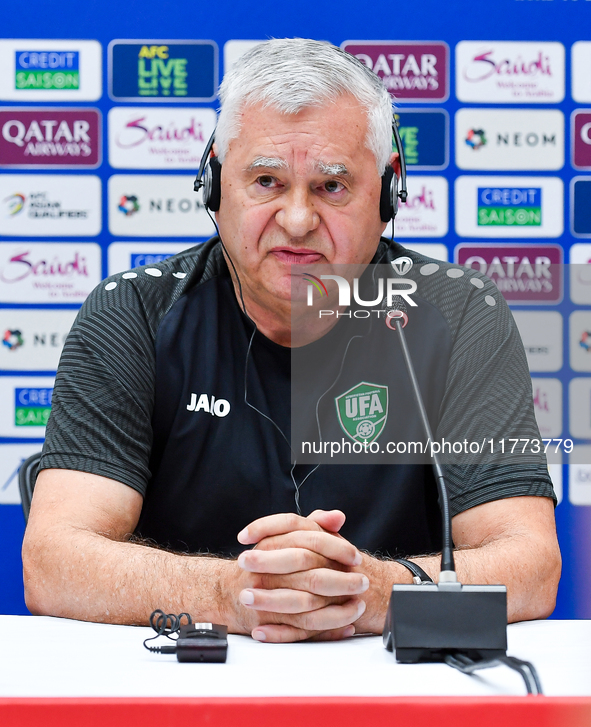
M394 169L388 165L386 171L382 174L382 191L380 193L380 217L382 222L390 222L396 217L398 212L398 199L406 202L408 191L406 189L406 160L404 158L404 148L398 133L398 121L392 119L392 136L396 145L396 151L400 160L400 191L398 191L398 177L394 174ZM203 204L211 212L217 212L220 208L220 199L222 196L222 165L216 156L210 156L215 141L215 131L210 136L201 163L199 171L193 184L193 189L198 192L203 187Z

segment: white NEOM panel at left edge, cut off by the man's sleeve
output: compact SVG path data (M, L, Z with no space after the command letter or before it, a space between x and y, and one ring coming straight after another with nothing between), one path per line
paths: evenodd
M0 370L56 371L77 310L0 309Z

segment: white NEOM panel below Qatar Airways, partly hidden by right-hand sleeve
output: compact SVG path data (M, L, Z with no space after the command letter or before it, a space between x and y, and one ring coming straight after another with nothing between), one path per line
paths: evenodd
M562 316L557 311L513 311L530 371L562 368ZM550 381L550 379L548 379ZM552 379L553 381L554 379ZM534 379L545 381L545 379Z

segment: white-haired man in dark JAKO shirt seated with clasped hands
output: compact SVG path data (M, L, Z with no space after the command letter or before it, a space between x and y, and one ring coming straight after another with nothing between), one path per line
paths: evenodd
M403 254L423 266L429 328L411 344L436 423L482 385L468 428L486 401L491 436L511 417L535 434L523 348L489 281L465 275L450 294L438 282L450 266L429 277L433 261L381 239L392 108L357 59L269 41L220 98L219 237L103 281L64 348L23 546L27 605L128 624L185 611L268 642L378 633L392 584L412 580L382 556L439 548L436 488L426 465L291 464L292 266L363 269ZM479 321L491 321L481 343ZM340 327L323 325L320 343L333 345ZM495 403L491 380L510 401ZM403 419L389 421L412 431ZM450 471L459 579L505 583L510 620L547 616L560 554L543 456ZM437 578L436 556L416 563Z

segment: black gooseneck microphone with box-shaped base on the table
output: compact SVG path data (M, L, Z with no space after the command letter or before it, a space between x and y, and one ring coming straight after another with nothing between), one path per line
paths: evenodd
M395 298L387 309L386 324L398 333L423 431L426 438L434 441L404 333L408 320L404 301ZM439 582L392 586L383 632L384 646L395 651L397 661L405 663L446 661L459 668L449 661L450 657L457 661L461 656L472 664L506 658L507 589L503 585L458 582L447 488L436 453L432 454L432 464L443 521Z

